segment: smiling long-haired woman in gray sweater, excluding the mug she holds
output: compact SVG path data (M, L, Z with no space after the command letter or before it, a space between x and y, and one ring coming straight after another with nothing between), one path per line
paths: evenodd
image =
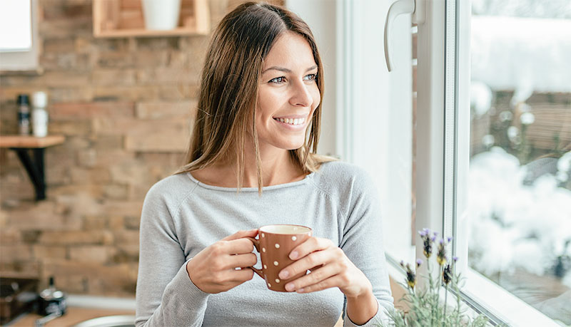
M141 217L137 326L373 326L393 306L378 201L362 170L315 155L323 71L308 26L247 3L213 33L188 165L149 190ZM309 133L308 133L309 132ZM257 227L301 224L269 291ZM239 232L237 232L239 231Z

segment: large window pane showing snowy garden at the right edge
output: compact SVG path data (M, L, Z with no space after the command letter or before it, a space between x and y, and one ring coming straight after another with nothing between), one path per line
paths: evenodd
M571 3L473 0L469 265L571 324Z

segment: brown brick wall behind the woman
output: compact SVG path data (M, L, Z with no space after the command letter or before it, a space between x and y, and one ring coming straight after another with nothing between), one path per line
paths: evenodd
M210 1L213 24L239 2ZM0 133L16 133L19 93L46 90L49 133L66 141L46 150L41 202L0 150L0 273L133 296L143 198L183 163L208 36L94 38L91 1L39 6L43 72L0 76Z

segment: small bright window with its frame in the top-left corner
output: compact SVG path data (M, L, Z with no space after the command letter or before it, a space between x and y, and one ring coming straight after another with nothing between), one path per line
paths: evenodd
M36 11L37 0L0 1L0 71L37 70Z

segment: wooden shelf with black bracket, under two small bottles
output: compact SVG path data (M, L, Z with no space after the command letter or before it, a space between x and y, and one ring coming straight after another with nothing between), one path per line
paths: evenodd
M36 190L36 200L46 199L46 174L44 171L44 149L63 143L63 135L46 137L24 135L0 135L0 147L16 152ZM31 153L30 153L31 152Z

